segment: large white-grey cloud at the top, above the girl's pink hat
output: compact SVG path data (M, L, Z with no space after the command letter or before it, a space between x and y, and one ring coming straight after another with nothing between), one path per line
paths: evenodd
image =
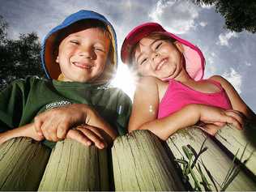
M198 18L200 9L190 1L159 0L149 17L171 32L182 34L195 28L194 20Z

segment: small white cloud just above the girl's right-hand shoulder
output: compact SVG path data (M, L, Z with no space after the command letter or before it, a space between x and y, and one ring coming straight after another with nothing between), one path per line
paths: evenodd
M225 72L223 77L233 84L233 87L241 94L241 75L236 70L230 68L230 71Z

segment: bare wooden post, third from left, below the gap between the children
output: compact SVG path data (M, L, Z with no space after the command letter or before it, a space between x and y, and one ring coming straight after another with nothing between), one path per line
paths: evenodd
M160 139L147 130L118 137L112 156L117 191L185 190Z

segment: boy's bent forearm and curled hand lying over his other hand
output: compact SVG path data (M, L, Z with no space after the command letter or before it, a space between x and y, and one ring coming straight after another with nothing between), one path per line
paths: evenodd
M81 124L95 126L105 131L109 139L117 137L116 131L94 109L84 104L50 109L35 117L36 132L39 135L43 134L45 139L55 142L65 139L70 128Z

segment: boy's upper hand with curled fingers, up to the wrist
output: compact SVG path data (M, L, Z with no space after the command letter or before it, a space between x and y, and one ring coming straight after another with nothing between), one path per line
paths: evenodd
M40 136L44 135L49 141L65 139L71 127L87 122L89 110L90 108L83 104L50 109L35 117L36 132Z

